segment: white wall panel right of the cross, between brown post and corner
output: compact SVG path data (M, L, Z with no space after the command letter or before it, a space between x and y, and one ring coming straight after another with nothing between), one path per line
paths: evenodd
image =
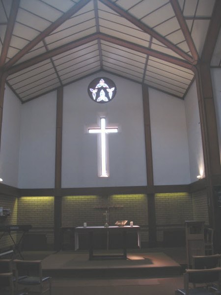
M149 89L149 101L154 184L189 184L184 101L155 89Z

